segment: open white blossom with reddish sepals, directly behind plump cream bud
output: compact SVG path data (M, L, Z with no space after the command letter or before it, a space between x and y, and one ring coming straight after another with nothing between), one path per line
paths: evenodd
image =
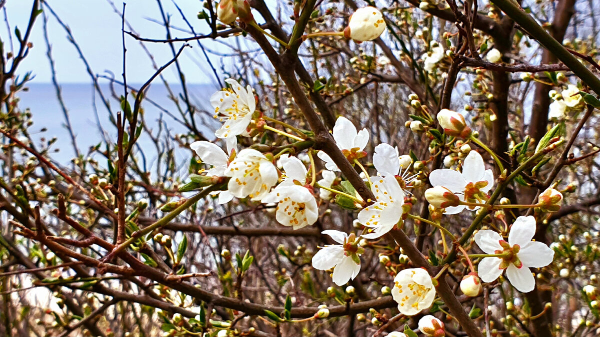
M464 158L463 171L450 169L433 170L429 174L432 186L443 186L456 194L461 201L485 203L488 192L494 186L492 170L485 169L483 158L477 151L469 152ZM465 205L447 206L444 214L456 214L465 209ZM476 210L479 206L468 206Z

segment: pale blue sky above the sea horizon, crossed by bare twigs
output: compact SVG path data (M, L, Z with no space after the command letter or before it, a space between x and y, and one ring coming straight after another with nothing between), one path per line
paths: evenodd
M112 72L121 80L123 62L121 16L113 11L110 2L113 2L119 11L122 10L123 2L118 0L47 0L47 2L63 22L71 28L83 55L91 65L92 71L96 74L109 74L107 72ZM161 20L157 1L128 0L126 2L125 19L139 35L155 39L166 37L164 26L151 20ZM200 0L176 0L176 2L198 34L209 32L206 22L196 17L198 11L202 10ZM8 17L11 32L14 32L15 26L17 26L22 34L25 34L32 3L33 0L7 0L5 13ZM162 0L161 3L164 11L170 14L173 27L187 28L172 0ZM89 83L85 66L73 44L67 40L66 32L49 11L46 14L49 16L49 40L52 44L52 53L56 62L59 82ZM2 21L4 21L4 13L0 15ZM125 28L125 30L128 31L129 29ZM176 30L173 30L172 34L173 37L191 36L188 32ZM5 43L5 52L8 52L10 46L8 46L9 40L5 22L0 23L0 37ZM13 43L16 44L14 34L13 40ZM41 16L35 22L30 41L34 47L20 65L20 73L33 71L35 74L33 83L49 83L52 74L46 56L43 17ZM127 44L127 81L128 83L144 83L155 71L152 68L151 61L149 61L138 41L128 36L126 36L125 41ZM213 51L218 51L222 46L209 40L203 40L202 43ZM199 45L196 42L192 42L191 45L193 48L184 50L179 58L187 76L186 80L189 83L214 83L214 75L212 75ZM176 50L179 49L179 46L181 44L176 44ZM172 53L167 44L146 43L146 47L155 56L155 61L159 67L172 58ZM218 69L221 65L221 58L215 55L211 55L211 58ZM170 67L163 73L170 82L177 80L174 70L175 67Z

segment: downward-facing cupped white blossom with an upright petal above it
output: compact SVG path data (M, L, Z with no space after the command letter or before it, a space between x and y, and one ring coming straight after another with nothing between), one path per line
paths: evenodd
M286 172L283 181L268 195L263 203L277 203L275 219L294 229L314 224L319 217L319 206L312 186L306 185L307 170L296 157L282 156L281 164Z

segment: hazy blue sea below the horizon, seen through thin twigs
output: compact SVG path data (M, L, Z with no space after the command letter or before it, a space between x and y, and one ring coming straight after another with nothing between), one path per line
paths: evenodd
M134 88L141 86L129 83L128 85ZM104 97L110 101L110 110L116 116L116 112L121 110L121 108L119 102L112 98L110 85L106 83L100 87L104 93ZM52 149L59 149L59 151L52 152L52 158L59 163L67 164L74 157L75 152L71 145L70 136L65 128L65 116L56 98L54 86L51 83L30 83L28 88L28 91L19 93L19 107L21 110L25 110L26 108L31 109L34 124L29 128L29 132L33 134L35 143L38 143L41 139L49 140L52 137L57 137L58 140L52 146ZM99 95L94 91L91 83L68 83L61 85L61 89L80 152L86 154L90 146L95 146L101 142L102 137L98 122L106 131L106 137L113 141L116 139L116 128L110 123L109 111L100 100ZM171 90L176 96L179 96L182 92L181 86L178 85L171 86ZM212 110L208 101L209 97L217 90L218 88L215 88L214 85L188 85L188 93L192 103L199 109L209 111ZM114 91L117 95L123 94L122 86L115 85ZM179 111L175 103L169 99L167 88L164 85L153 84L149 88L146 97L157 103L162 109L166 109L179 118ZM129 100L131 106L133 106L133 97L131 95ZM94 103L97 116L94 111ZM143 103L142 106L145 110L146 121L151 128L157 128L157 121L162 117L171 133L181 133L185 130L181 124L167 116L160 108L148 102ZM185 106L182 109L185 109ZM200 114L197 115L199 117L196 119L196 123L198 125L205 124L206 121L200 119ZM214 130L215 124L213 121L209 121L209 124L212 125L208 127L199 126L199 129L208 139L212 139L214 135L211 135L211 129ZM40 130L43 128L46 128L46 131L41 132ZM142 148L154 148L151 140L145 134L142 134L142 137L140 137L139 145ZM151 159L148 158L148 160Z

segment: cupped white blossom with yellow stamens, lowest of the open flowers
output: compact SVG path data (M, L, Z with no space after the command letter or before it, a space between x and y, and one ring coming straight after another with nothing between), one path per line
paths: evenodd
M392 297L398 302L401 314L412 316L433 304L436 288L423 268L403 269L394 278Z

